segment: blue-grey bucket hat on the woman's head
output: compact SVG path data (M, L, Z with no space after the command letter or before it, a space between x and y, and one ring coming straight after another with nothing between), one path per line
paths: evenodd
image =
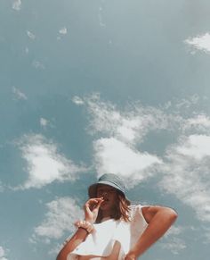
M96 189L98 184L106 184L109 185L119 191L121 191L124 196L125 196L125 184L124 181L117 176L114 173L105 173L101 175L99 180L95 183L93 183L89 188L88 188L88 195L89 197L96 197Z

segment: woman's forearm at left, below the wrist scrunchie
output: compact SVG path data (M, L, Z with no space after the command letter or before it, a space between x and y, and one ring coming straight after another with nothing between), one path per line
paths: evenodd
M56 260L67 260L69 253L86 239L87 234L87 231L84 229L78 229L72 238L69 239L69 242L64 247L62 247Z

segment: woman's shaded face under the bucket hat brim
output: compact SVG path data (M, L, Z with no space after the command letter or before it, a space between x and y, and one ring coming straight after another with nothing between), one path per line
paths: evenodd
M117 189L99 184L96 191L96 197L103 197L104 201L101 203L101 210L113 209L118 203Z

